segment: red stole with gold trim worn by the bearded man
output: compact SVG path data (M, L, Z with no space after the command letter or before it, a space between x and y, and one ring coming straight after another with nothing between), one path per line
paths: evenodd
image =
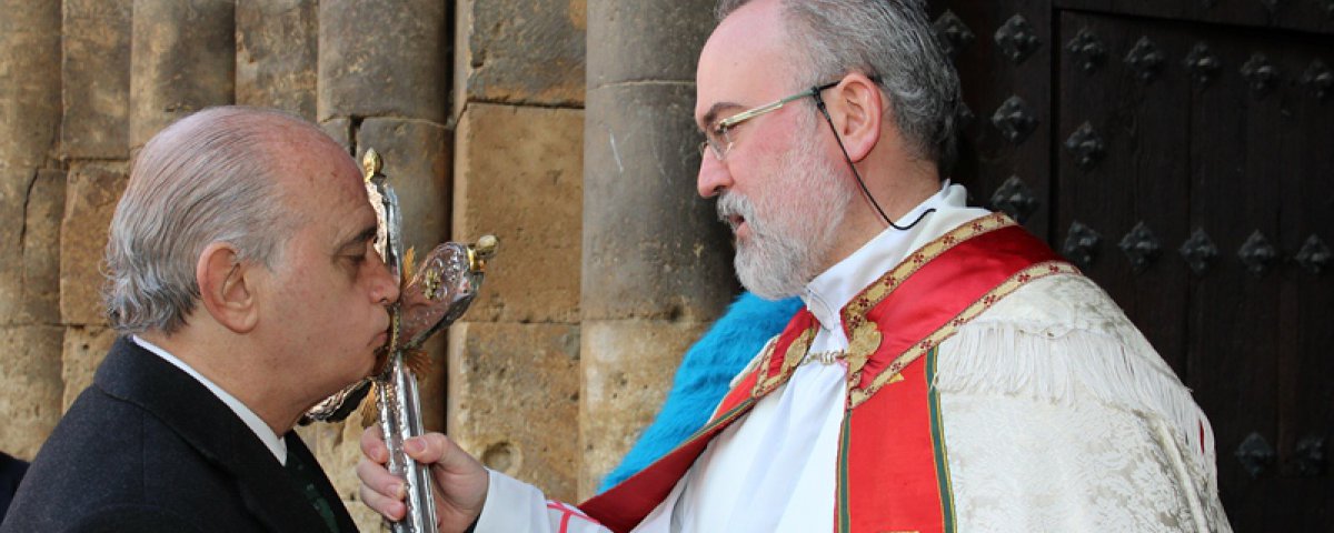
M930 386L935 348L1023 284L1077 272L1022 227L992 213L914 251L843 308L848 392L836 516L830 517L836 530L954 530L944 438ZM704 428L579 508L614 532L634 529L714 436L787 381L818 328L810 312L798 312Z

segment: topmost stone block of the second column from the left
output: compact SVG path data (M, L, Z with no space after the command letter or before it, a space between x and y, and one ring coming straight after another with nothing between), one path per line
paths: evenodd
M129 33L133 0L64 0L63 159L129 155Z

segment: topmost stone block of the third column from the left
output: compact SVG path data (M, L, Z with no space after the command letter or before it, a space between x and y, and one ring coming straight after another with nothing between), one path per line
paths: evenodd
M236 88L233 0L135 0L129 147L177 119L231 104Z

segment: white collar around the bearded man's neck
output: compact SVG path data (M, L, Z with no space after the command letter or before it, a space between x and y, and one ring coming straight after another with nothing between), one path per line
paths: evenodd
M951 185L946 180L938 193L918 204L918 207L908 211L899 220L895 220L894 224L902 227L912 223L922 212L931 208L938 211L962 208L966 201L967 192L963 187ZM847 346L847 337L843 334L843 318L839 316L839 312L862 289L903 261L903 257L911 252L908 245L912 244L916 233L926 227L926 223L932 216L936 215L927 215L926 220L906 232L886 228L880 235L866 241L856 252L852 252L806 284L806 289L802 292L802 301L806 302L806 308L815 316L815 320L819 320L820 326L832 334L834 344L838 348Z

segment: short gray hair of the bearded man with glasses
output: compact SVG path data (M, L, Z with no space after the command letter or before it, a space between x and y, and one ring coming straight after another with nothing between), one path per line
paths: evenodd
M720 0L722 21L750 0ZM920 0L780 0L796 59L815 87L858 71L876 77L895 127L942 173L956 157L959 76Z

